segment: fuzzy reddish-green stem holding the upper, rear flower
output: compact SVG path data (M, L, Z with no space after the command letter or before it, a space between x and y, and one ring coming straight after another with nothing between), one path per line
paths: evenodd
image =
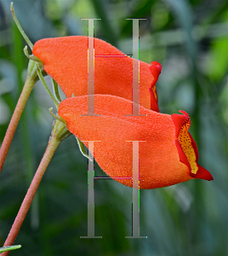
M3 168L4 160L8 154L9 146L14 137L14 132L16 131L17 125L19 123L20 116L26 106L27 99L30 96L31 90L33 89L37 80L38 80L38 77L37 77L36 62L29 61L26 84L24 85L24 88L20 94L19 101L17 102L16 108L14 109L12 119L10 120L9 127L6 131L6 135L3 139L3 144L0 149L0 173Z

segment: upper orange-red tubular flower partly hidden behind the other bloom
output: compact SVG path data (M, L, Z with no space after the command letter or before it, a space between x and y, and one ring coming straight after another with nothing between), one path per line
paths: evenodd
M42 39L34 45L32 53L43 61L44 70L60 84L67 97L88 95L88 37ZM132 101L133 62L138 65L139 61L94 38L94 93ZM139 103L157 112L156 82L161 70L156 61L151 65L140 61Z

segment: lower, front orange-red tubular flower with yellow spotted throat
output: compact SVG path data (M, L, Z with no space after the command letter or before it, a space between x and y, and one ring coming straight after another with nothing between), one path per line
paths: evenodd
M188 132L187 113L168 115L140 106L140 114L146 116L126 116L131 113L132 102L95 95L94 112L101 115L83 116L87 104L88 96L67 98L60 103L59 115L87 147L88 141L96 141L94 159L119 183L133 186L132 179L126 178L133 177L132 141L139 142L140 189L166 187L192 178L213 179L197 164L197 145Z

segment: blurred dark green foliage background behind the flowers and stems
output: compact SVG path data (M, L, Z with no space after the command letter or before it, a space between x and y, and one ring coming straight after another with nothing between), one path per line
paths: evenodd
M0 143L25 82L26 45L0 0ZM140 191L140 236L131 236L132 190L95 180L95 236L87 236L87 160L74 137L60 144L10 255L228 255L228 2L227 0L15 0L15 13L31 42L94 36L131 54L132 21L140 21L140 60L160 61L162 113L191 116L200 165L213 182L192 180ZM48 83L50 79L47 78ZM13 224L51 131L53 107L37 82L0 176L0 247ZM103 176L95 165L95 176Z

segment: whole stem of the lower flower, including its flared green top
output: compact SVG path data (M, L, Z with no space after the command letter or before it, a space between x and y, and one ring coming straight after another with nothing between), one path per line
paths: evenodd
M3 247L12 246L14 240L20 231L20 227L26 218L26 214L31 206L31 201L34 198L34 195L37 192L38 186L42 180L43 174L46 171L50 160L52 159L56 148L60 145L61 141L66 137L69 137L71 132L67 130L66 125L61 123L59 120L54 120L54 125L52 128L52 134L48 142L48 147L46 148L45 153L43 154L43 159L38 166L37 172L32 179L30 188L26 193L26 197L20 206L20 210L14 220L14 224L9 231L9 236L5 241ZM1 256L7 256L9 252L4 252Z

